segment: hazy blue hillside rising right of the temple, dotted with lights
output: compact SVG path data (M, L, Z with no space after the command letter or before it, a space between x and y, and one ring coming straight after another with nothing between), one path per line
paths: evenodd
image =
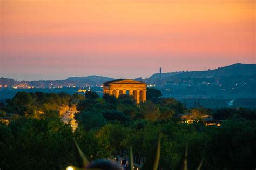
M153 74L145 80L164 97L239 99L256 96L256 64L233 64L207 71Z

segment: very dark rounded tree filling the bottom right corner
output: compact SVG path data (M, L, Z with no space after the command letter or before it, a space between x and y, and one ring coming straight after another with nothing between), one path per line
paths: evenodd
M255 168L256 122L227 120L220 127L208 131L204 169Z

